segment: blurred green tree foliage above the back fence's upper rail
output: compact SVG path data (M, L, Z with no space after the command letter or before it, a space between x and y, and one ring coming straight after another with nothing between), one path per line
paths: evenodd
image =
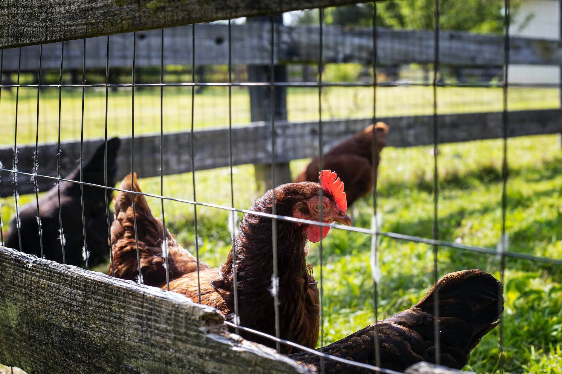
M511 14L521 0L511 0ZM400 29L433 29L434 0L389 0L377 3L377 25ZM328 25L370 26L373 3L327 8ZM297 23L318 22L318 11L305 11ZM504 2L501 0L439 0L439 26L444 30L501 34L504 31Z

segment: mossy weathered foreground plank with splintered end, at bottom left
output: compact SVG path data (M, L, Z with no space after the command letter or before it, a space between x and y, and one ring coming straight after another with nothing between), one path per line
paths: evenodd
M0 336L0 362L28 373L306 372L183 295L6 247Z

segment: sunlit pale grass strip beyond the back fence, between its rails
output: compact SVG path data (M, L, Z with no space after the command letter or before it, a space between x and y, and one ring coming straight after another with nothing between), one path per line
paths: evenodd
M61 139L80 139L81 89L62 89ZM130 89L110 91L108 133L130 136L132 99ZM439 113L500 111L501 88L438 88ZM58 136L58 89L47 88L40 94L39 142L56 142ZM373 115L373 89L324 88L322 116L330 118L366 118ZM559 108L559 90L552 88L510 88L510 110ZM228 124L228 89L209 87L195 96L194 126L202 129ZM248 88L232 90L232 121L250 122ZM315 121L318 118L318 90L289 88L289 121ZM17 104L17 142L35 142L37 125L37 89L21 88ZM377 89L378 116L428 115L433 111L431 87L398 86ZM12 145L16 112L16 90L2 89L0 98L0 145ZM163 105L166 132L191 128L191 88L167 87ZM105 129L105 89L88 88L84 101L84 138L103 138ZM160 90L135 90L135 135L160 131Z

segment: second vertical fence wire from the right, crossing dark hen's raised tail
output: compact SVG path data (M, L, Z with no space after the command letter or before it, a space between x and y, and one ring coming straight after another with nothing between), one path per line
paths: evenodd
M437 155L439 153L439 123L437 118L437 75L439 74L439 0L433 5L434 49L433 49L433 240L439 239L439 223L437 221L439 202L439 170ZM439 273L437 269L437 251L439 246L433 245L433 282L437 284ZM433 334L435 346L435 363L439 364L440 340L439 336L439 290L433 291Z

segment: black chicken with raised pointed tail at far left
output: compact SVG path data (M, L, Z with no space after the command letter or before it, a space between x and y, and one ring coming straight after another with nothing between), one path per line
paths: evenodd
M107 141L107 184L115 185L117 166L115 159L119 149L119 138ZM103 185L104 144L83 166L83 181ZM80 180L80 167L75 168L65 179ZM108 191L108 198L112 193ZM84 218L86 225L86 242L90 251L89 263L102 262L109 254L107 246L107 210L105 192L101 188L84 186ZM40 256L39 231L37 221L37 203L35 200L20 208L22 251ZM62 229L65 234L66 263L83 265L82 247L84 236L82 230L82 212L80 205L80 185L61 181L61 216ZM43 229L43 254L45 258L62 262L62 247L59 237L58 194L53 186L39 199L39 218ZM110 219L113 215L110 215ZM15 217L10 224L6 243L7 247L20 249Z

